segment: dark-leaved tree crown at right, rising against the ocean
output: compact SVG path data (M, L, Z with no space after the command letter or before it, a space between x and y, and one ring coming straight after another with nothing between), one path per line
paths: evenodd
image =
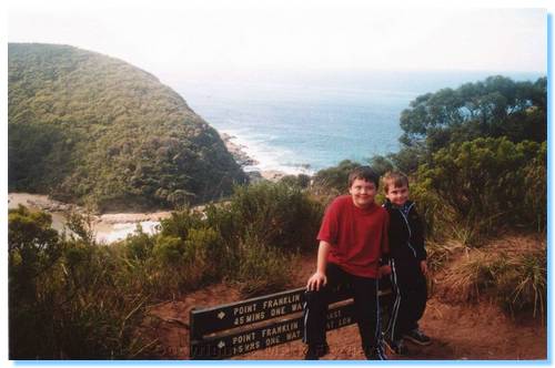
M531 83L501 75L426 93L402 112L400 141L404 147L423 145L427 152L481 136L543 142L546 93L545 78Z

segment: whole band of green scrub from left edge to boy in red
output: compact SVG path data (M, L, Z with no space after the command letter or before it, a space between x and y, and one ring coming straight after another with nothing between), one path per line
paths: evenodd
M283 289L292 258L316 248L322 213L299 188L261 183L204 215L175 212L159 234L138 228L102 246L83 218L70 218L68 237L46 213L11 209L10 358L155 357L139 328L147 306L222 279L244 295Z

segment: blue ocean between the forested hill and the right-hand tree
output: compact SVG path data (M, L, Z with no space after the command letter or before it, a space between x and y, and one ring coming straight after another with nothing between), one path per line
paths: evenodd
M189 106L258 161L245 171L313 174L342 160L400 149L400 115L416 96L502 74L539 73L258 72L169 83Z

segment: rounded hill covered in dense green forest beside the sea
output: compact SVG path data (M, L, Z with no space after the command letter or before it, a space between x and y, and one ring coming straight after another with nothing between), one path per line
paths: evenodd
M218 132L152 74L68 45L8 50L10 191L148 209L244 182Z

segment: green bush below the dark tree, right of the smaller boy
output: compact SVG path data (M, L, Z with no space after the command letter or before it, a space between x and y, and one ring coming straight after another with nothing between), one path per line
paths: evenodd
M539 203L545 198L545 152L542 144L505 137L453 144L420 167L418 181L452 208L455 223L477 234L511 225L544 227L538 223L543 215L538 218L527 204L545 206Z

